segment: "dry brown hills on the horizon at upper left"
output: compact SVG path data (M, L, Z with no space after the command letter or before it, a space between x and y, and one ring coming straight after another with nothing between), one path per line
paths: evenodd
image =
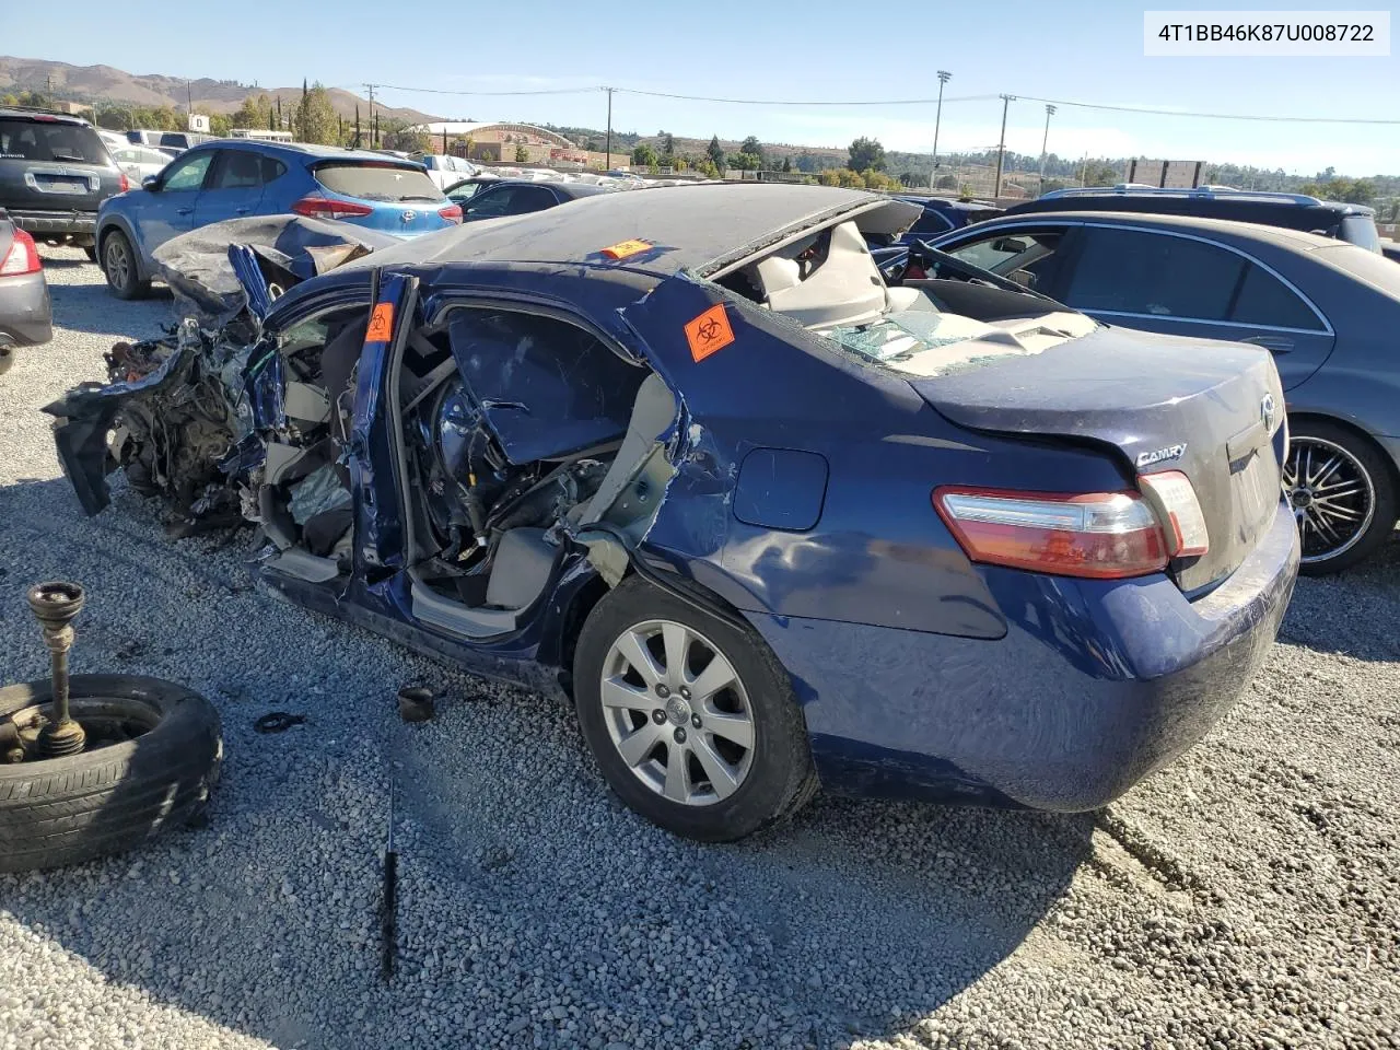
M301 87L260 88L241 84L237 80L186 81L182 77L167 77L160 73L133 74L113 66L70 66L66 62L46 59L17 59L0 55L0 92L42 91L53 98L76 102L130 102L141 106L174 106L185 109L193 102L196 109L211 113L231 113L249 95L266 92L269 98L280 97L283 105L301 98ZM340 116L353 118L358 105L360 113L368 116L370 99L351 91L329 88L330 105ZM441 118L419 109L396 109L375 104L375 109L391 120L423 123Z

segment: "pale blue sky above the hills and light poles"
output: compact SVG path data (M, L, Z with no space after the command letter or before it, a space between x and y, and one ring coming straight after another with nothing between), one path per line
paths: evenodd
M1158 0L1152 8L1168 4ZM1196 4L1200 7L1200 4ZM1352 10L1364 4L1277 4ZM1229 4L1219 4L1229 7ZM861 4L853 0L532 0L416 6L281 0L139 6L11 0L0 50L130 73L361 90L363 81L458 91L613 84L762 99L1037 95L1183 111L1400 119L1396 57L1148 59L1144 6L1079 0ZM402 11L395 20L386 11ZM1397 25L1400 29L1400 25ZM518 98L385 90L391 105L451 118L605 123L602 92ZM994 146L997 98L945 102L939 151ZM872 134L927 151L934 106L724 105L619 94L620 130L846 146ZM1011 105L1008 147L1039 153L1040 102ZM1239 161L1312 174L1400 174L1400 126L1278 125L1060 106L1050 150Z

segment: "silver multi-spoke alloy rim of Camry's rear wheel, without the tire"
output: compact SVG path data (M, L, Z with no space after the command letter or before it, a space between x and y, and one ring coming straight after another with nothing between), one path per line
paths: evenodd
M728 657L673 620L624 630L602 671L608 735L643 784L680 805L721 802L753 764L753 708Z

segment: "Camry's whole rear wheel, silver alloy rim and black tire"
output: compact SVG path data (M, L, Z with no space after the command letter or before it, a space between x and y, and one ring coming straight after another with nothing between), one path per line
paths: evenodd
M673 834L742 839L816 790L791 679L763 638L641 577L584 623L574 704L612 790Z

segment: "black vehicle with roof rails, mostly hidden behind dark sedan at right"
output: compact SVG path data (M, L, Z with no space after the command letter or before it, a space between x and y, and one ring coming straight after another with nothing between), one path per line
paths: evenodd
M1236 223L1281 225L1308 234L1322 234L1371 252L1380 251L1375 210L1340 200L1319 200L1302 193L1256 193L1222 186L1060 189L1036 200L1014 204L1005 214L1011 217L1043 211L1144 211L1154 216L1232 218Z

